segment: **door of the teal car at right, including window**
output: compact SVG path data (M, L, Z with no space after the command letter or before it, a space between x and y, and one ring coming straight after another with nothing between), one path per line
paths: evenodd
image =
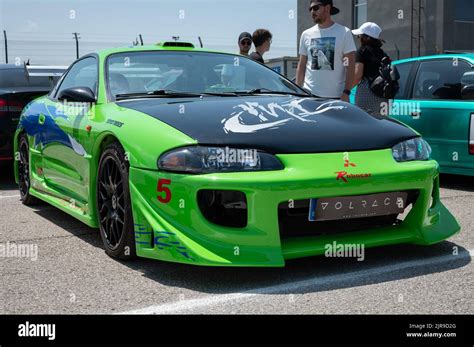
M433 59L419 62L416 70L412 91L406 91L406 100L393 110L398 111L396 118L430 143L432 157L442 172L472 166L469 129L473 103L461 97L463 80L473 71L471 64L457 58Z

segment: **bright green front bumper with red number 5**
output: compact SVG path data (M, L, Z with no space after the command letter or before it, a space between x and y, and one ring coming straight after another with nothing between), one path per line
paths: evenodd
M285 260L321 255L325 245L364 244L377 247L398 243L430 245L460 231L439 199L435 161L397 163L391 150L350 153L356 167L344 167L343 153L280 155L285 169L272 172L177 175L130 169L130 190L137 254L142 257L195 265L273 266ZM337 172L370 177L337 179ZM169 180L171 200L157 198L159 180ZM243 229L221 227L201 213L197 194L202 189L238 190L246 194L248 223ZM417 190L412 210L399 225L282 239L278 206L289 200L368 195Z

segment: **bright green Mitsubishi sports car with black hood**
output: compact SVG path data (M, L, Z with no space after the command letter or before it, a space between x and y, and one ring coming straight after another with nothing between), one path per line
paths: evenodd
M419 134L186 43L77 60L24 109L15 151L24 204L99 228L120 259L281 267L460 230Z

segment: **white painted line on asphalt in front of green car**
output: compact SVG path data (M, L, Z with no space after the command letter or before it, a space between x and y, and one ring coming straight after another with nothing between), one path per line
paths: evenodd
M169 314L177 313L179 311L189 311L199 307L213 306L217 304L222 304L229 301L237 301L242 299L248 299L254 296L263 295L263 294L275 294L281 292L291 292L297 289L301 289L309 286L322 286L331 284L334 282L344 282L347 280L353 280L354 278L363 278L363 277L373 277L390 272L406 270L410 268L423 267L429 265L439 265L442 263L452 262L453 260L463 260L465 258L471 258L474 256L474 250L468 250L461 252L459 255L444 255L441 257L429 258L429 259L418 259L410 260L398 264L385 265L378 268L371 268L368 270L346 272L343 274L338 274L335 276L326 275L318 276L310 279L293 282L293 283L282 283L269 287L261 287L245 291L242 293L230 293L230 294L216 294L209 295L204 298L199 299L189 299L181 300L177 302L149 306L143 309L132 310L127 312L122 312L119 314Z

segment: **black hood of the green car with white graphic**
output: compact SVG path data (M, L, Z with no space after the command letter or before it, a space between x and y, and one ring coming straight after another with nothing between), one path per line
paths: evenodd
M373 117L345 102L315 98L147 98L117 105L154 117L201 145L274 154L386 149L418 136L389 118Z

